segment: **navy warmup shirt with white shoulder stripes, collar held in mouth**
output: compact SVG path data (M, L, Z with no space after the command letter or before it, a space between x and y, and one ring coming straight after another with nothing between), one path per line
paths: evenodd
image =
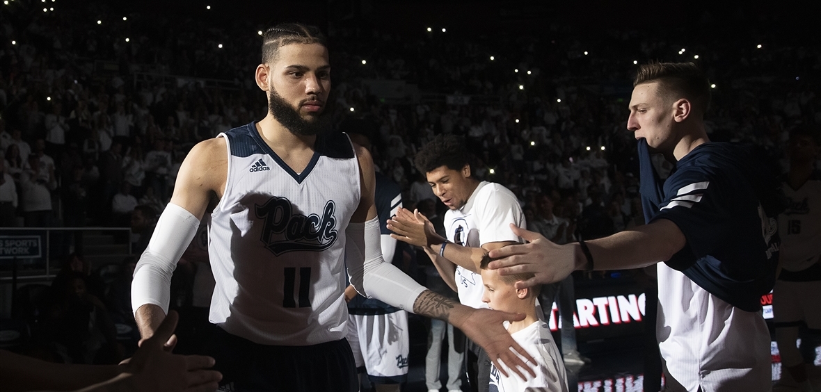
M736 144L699 145L665 181L644 139L639 157L645 219L672 221L687 239L667 266L736 308L759 311L775 284L781 243L773 175Z

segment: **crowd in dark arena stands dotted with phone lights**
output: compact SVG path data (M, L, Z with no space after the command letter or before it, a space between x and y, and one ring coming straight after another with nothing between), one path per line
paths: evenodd
M58 14L38 2L10 4L0 11L2 226L134 226L144 248L186 152L264 117L253 80L264 26L124 13L104 2ZM590 31L560 21L543 34L498 36L323 26L334 122L374 122L378 171L401 185L406 207L435 200L415 151L435 134L459 134L475 152L475 175L511 189L529 221L544 215L544 194L580 235L609 235L644 222L626 130L636 63L703 66L715 83L711 139L758 148L773 171L783 170L792 126L821 126L817 34L807 27L800 42L743 27L727 34L731 26L739 25L705 14L688 42L677 30ZM381 93L397 85L404 96ZM85 315L71 321L78 326L92 317L105 345L110 321L95 312L104 295L87 295L96 289L88 280L79 287L83 272L73 272L58 281L75 295L54 303L53 317ZM78 343L64 338L54 339ZM90 362L80 349L66 355ZM122 358L116 344L106 354Z

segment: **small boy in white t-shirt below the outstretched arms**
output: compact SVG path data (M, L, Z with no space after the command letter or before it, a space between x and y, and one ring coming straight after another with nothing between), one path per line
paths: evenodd
M485 256L479 264L484 282L482 302L491 309L502 312L525 313L522 321L511 322L507 332L513 340L527 350L536 359L538 367L536 377L527 381L507 371L510 376L503 376L495 366L490 368L490 390L499 392L568 392L567 376L562 354L553 341L548 323L536 316L536 298L539 286L528 289L516 289L517 280L528 280L533 274L501 276L498 271L488 270L490 258Z

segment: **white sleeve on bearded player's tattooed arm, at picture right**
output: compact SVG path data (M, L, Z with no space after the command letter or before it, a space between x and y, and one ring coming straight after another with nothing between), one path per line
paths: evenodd
M345 235L348 276L356 291L366 298L413 312L413 305L425 288L383 260L378 218L349 223Z

